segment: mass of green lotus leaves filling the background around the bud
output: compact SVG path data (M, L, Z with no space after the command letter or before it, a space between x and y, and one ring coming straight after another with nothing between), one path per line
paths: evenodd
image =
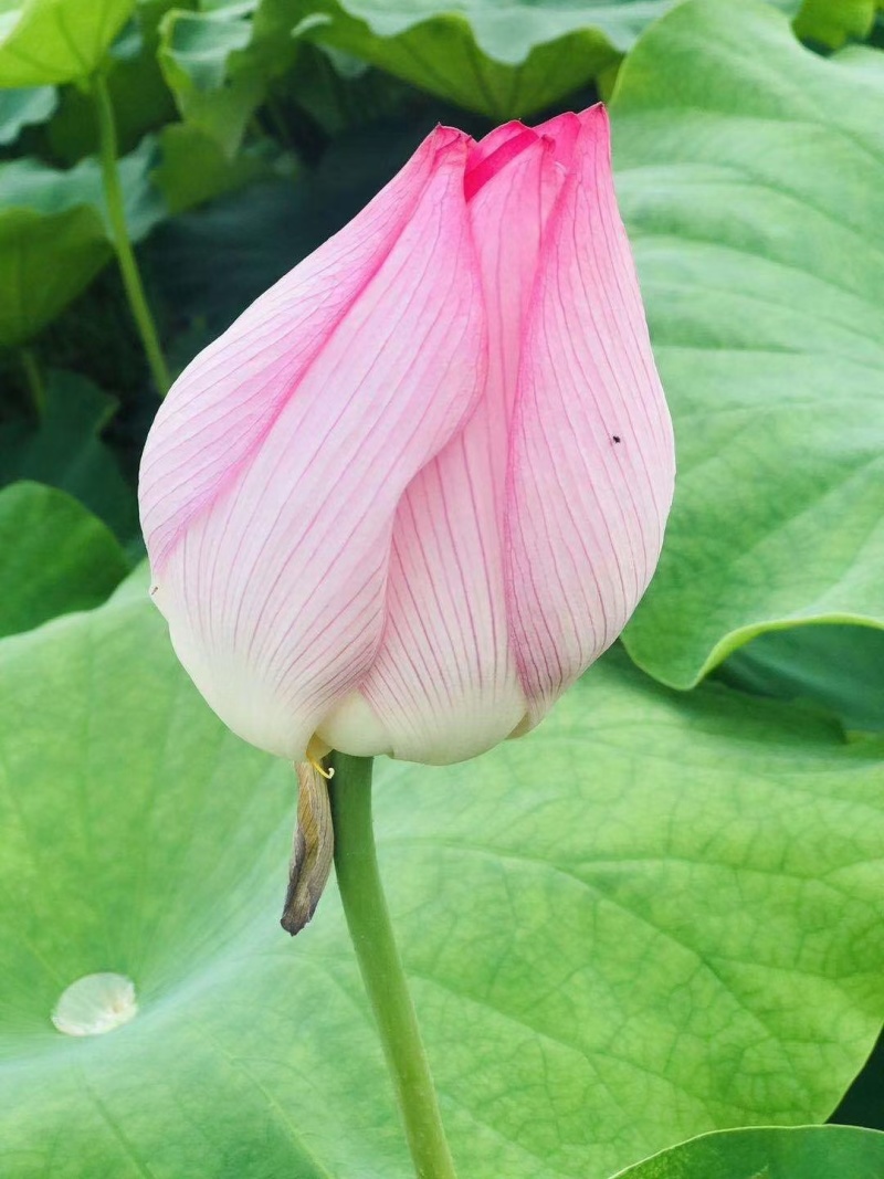
M436 121L609 100L677 500L624 644L535 735L378 772L443 1114L477 1179L884 1173L873 0L0 4L0 1172L409 1173L334 889L277 927L290 771L145 597L159 390L97 74L173 371ZM61 1038L95 970L138 1017Z

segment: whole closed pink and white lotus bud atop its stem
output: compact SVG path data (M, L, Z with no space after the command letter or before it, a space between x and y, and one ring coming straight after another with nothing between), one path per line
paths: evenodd
M152 592L246 740L457 762L614 641L673 474L605 110L437 127L176 382Z

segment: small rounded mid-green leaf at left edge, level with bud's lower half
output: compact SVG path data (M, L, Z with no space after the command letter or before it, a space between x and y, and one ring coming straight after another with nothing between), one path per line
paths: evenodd
M0 637L98 606L128 572L108 528L40 483L0 490Z

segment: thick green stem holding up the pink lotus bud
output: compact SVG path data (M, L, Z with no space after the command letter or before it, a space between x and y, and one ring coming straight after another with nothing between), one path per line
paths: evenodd
M332 757L335 871L418 1179L456 1179L402 959L392 935L371 828L371 758Z

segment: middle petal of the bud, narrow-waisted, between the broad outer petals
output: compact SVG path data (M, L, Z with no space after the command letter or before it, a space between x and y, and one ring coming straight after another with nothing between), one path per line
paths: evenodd
M558 183L550 167L550 145L534 137L469 205L489 324L484 396L400 505L387 628L362 685L401 758L473 757L527 711L507 623L503 511L522 322L545 192Z

